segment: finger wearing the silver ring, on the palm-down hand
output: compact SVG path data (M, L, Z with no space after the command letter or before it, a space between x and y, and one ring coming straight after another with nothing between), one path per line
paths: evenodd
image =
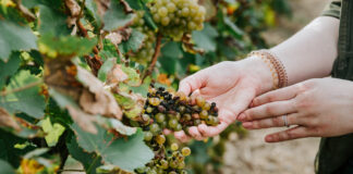
M287 115L288 125L303 125L302 117L299 113L292 113ZM275 116L271 119L264 119L253 122L244 122L243 127L247 129L260 129L270 127L283 127L284 120L283 116Z

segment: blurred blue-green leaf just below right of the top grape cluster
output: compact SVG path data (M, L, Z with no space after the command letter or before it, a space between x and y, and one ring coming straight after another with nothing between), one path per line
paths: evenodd
M205 24L203 30L193 32L193 40L198 48L204 49L206 52L215 52L217 49L216 37L218 37L218 32L210 25Z

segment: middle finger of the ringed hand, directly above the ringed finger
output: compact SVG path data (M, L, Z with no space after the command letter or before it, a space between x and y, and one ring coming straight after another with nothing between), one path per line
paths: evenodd
M239 121L249 122L296 112L294 100L275 101L246 110L238 116Z

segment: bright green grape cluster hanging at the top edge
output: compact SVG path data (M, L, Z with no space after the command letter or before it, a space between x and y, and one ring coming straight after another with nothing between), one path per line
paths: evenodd
M206 9L197 0L153 0L148 7L162 34L174 40L204 28Z

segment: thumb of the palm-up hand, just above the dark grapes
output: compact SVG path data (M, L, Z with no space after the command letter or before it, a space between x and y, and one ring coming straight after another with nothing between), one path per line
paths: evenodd
M204 71L199 71L196 74L193 74L179 84L179 91L190 95L196 89L204 87L207 83L207 76L204 75Z

